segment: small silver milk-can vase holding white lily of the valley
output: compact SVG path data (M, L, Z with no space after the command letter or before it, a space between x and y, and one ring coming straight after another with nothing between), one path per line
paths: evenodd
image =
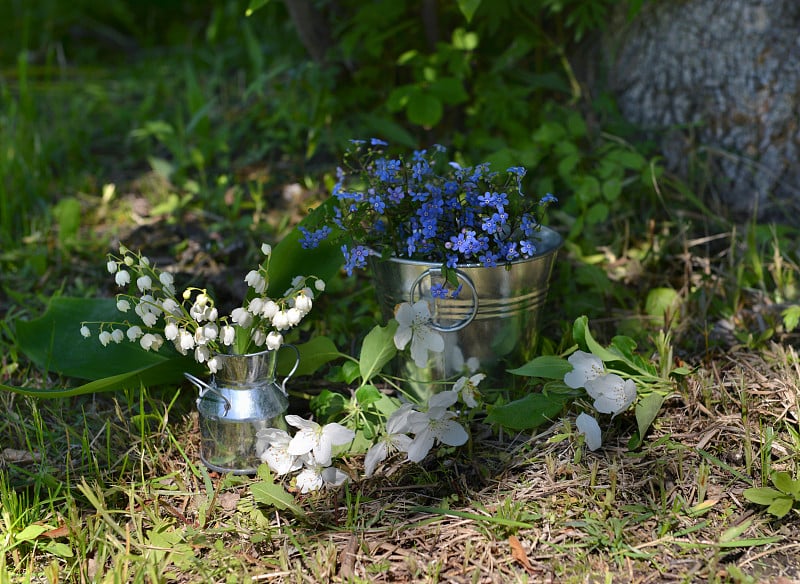
M264 428L286 429L289 407L286 382L297 370L297 360L279 384L275 379L277 351L247 355L219 354L219 367L210 383L185 373L200 391L200 460L221 473L254 474L261 464L263 444L257 437Z

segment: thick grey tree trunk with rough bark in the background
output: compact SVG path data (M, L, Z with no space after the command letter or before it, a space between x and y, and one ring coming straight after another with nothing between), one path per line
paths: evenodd
M800 2L667 0L609 27L608 84L735 217L800 223Z

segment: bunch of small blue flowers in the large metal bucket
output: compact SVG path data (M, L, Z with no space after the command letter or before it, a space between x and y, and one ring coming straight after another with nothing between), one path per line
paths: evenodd
M545 209L556 198L523 193L523 167L464 167L435 145L410 158L385 154L382 140L353 140L337 169L332 212L300 228L304 248L335 233L348 275L369 256L441 262L443 271L488 267L536 255Z

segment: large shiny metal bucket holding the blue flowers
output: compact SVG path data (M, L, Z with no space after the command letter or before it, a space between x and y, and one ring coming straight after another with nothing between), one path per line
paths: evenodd
M392 318L399 303L424 298L431 326L444 337L444 352L430 352L425 367L398 358L396 373L411 380L412 391L422 398L436 391L435 382L464 374L476 363L495 382L507 379L506 369L535 356L539 316L562 243L557 232L542 227L532 258L494 268L460 265L456 275L463 286L456 299L431 296L431 286L444 282L440 263L371 257L383 317Z

